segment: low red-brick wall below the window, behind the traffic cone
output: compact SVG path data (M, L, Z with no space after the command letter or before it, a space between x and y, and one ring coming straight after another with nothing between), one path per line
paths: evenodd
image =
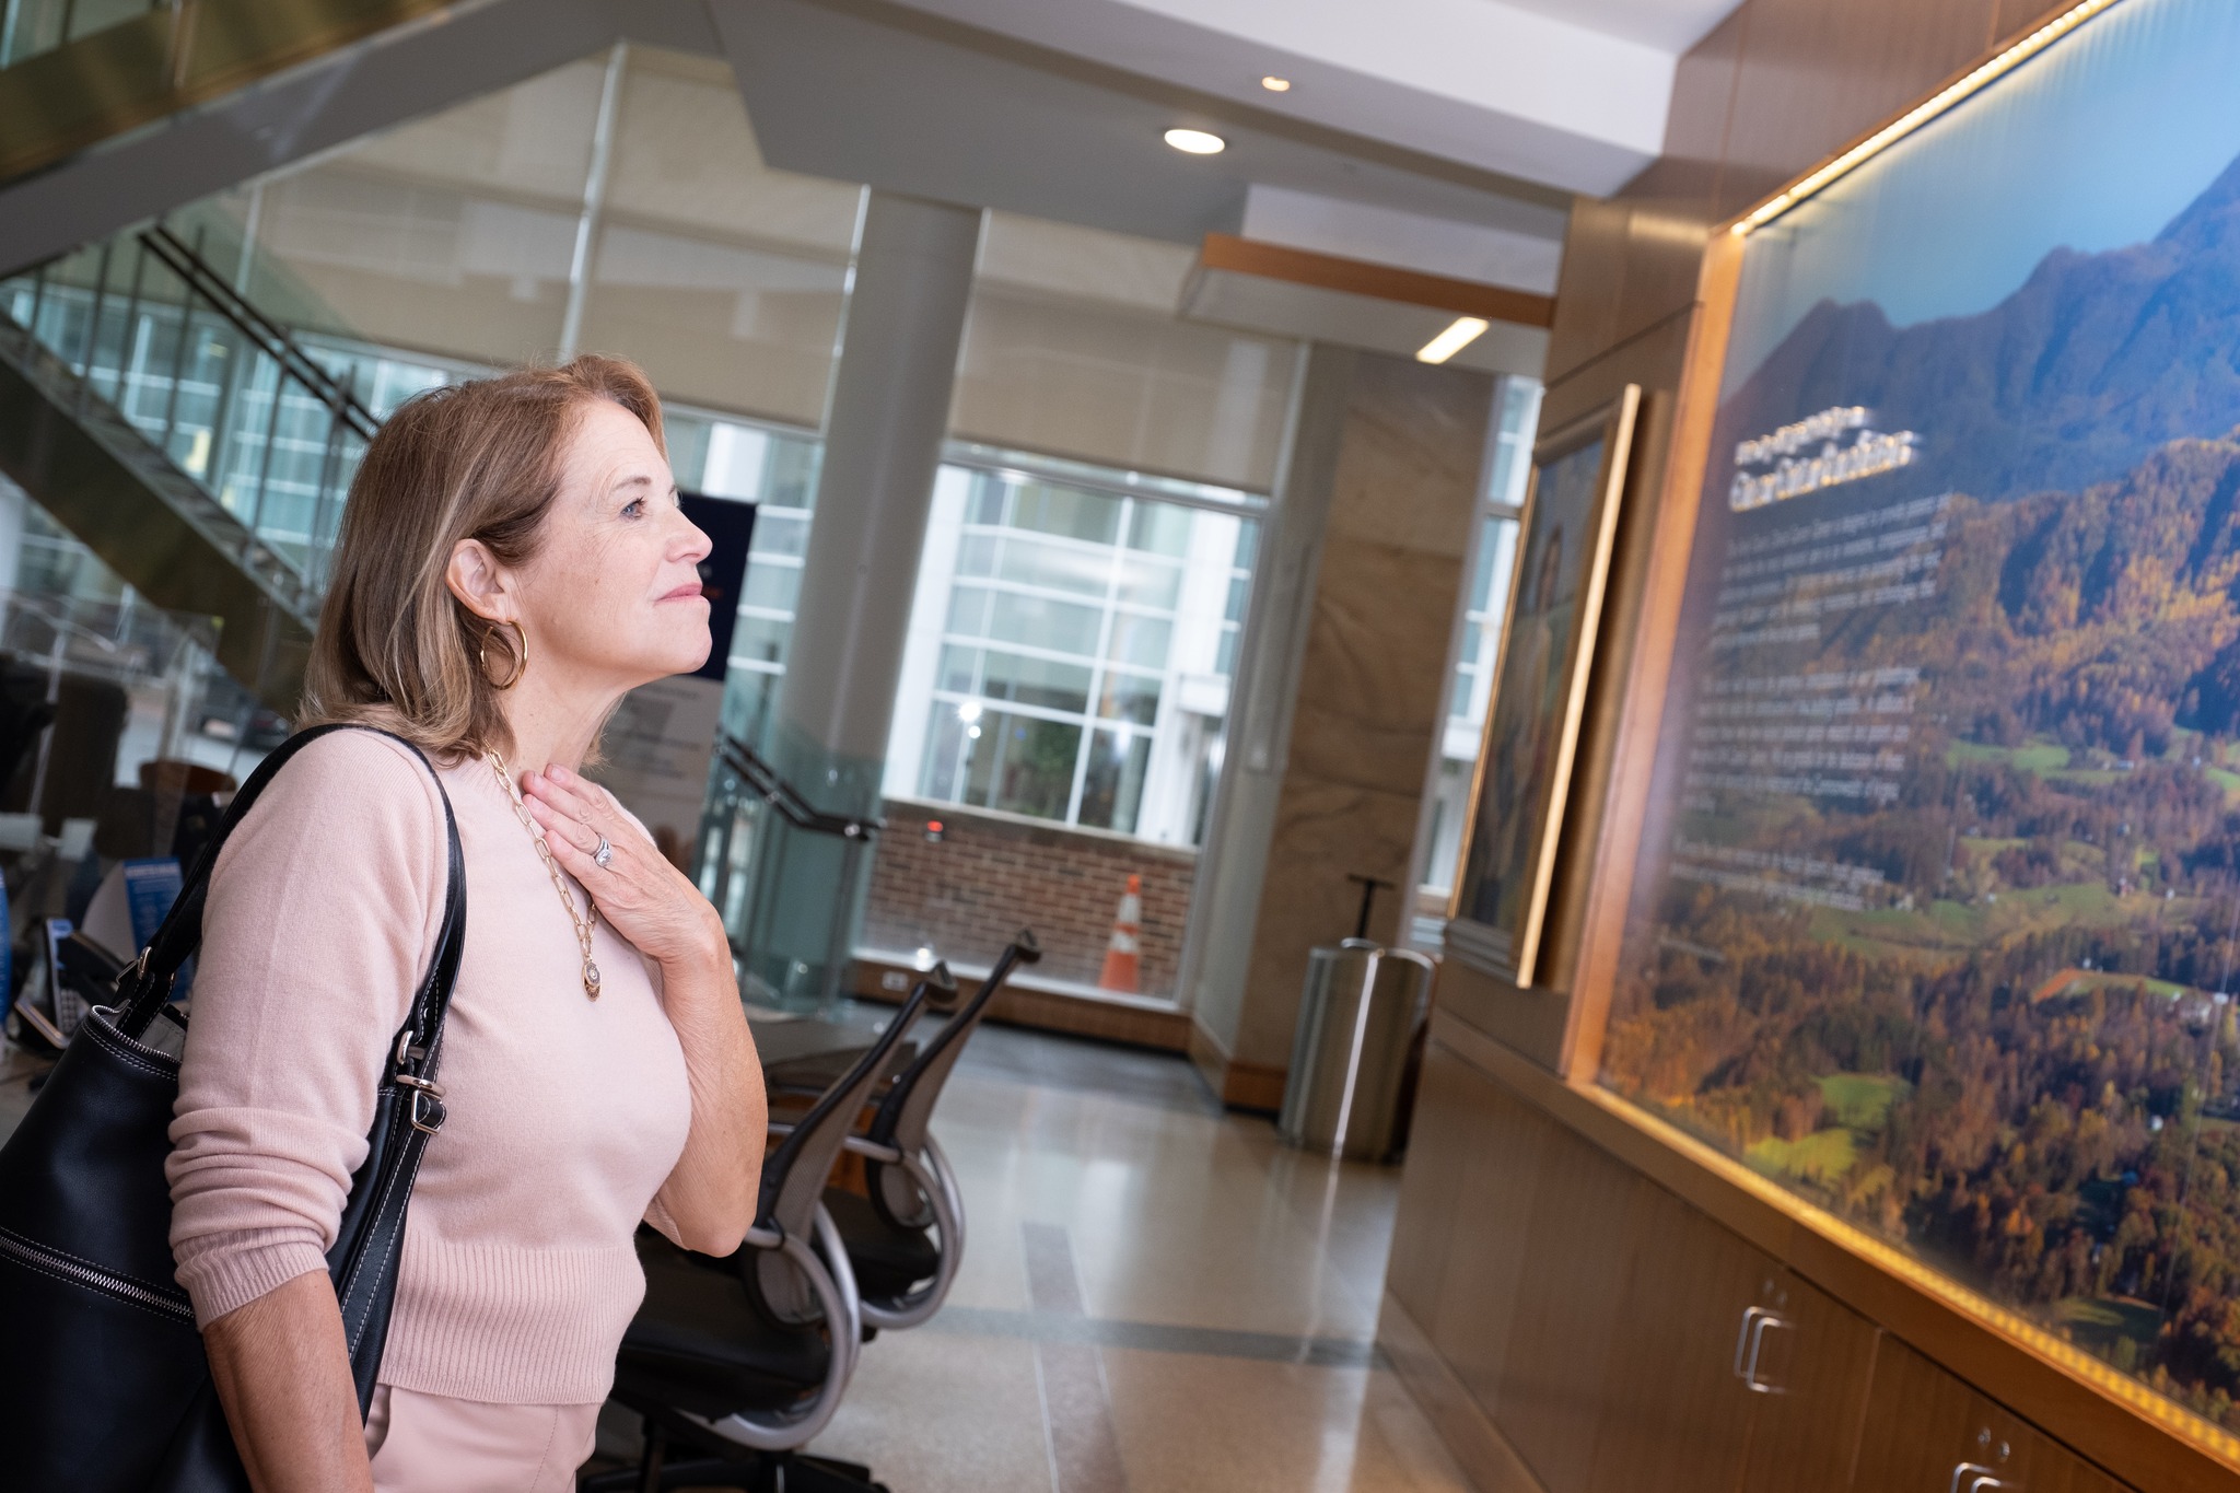
M988 965L1026 924L1044 949L1037 976L1095 985L1133 873L1142 877L1138 994L1174 996L1196 851L954 804L887 799L885 815L862 924L867 949L932 945L954 965ZM925 839L927 819L943 821L943 839Z

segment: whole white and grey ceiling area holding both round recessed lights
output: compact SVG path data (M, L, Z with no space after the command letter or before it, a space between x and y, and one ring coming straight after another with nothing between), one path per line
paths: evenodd
M1548 293L1736 0L708 0L786 170ZM1266 74L1292 83L1261 87ZM1160 143L1174 125L1216 157Z

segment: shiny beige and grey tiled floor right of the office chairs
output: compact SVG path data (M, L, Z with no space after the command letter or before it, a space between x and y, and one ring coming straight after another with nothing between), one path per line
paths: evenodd
M813 1450L894 1493L1467 1486L1373 1345L1398 1168L1286 1151L1183 1059L1006 1027L934 1133L963 1274L865 1348Z

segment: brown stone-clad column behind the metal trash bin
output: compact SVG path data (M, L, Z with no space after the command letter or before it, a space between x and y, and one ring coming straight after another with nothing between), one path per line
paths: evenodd
M1284 1099L1306 954L1398 942L1422 766L1478 510L1487 374L1317 345L1263 544L1236 754L1192 900L1192 1059L1223 1101Z

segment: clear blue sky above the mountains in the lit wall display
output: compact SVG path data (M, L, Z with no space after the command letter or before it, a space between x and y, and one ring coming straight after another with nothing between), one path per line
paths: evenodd
M1987 311L2054 248L2153 240L2240 157L2240 4L2124 0L1749 237L1727 392L1819 302Z

